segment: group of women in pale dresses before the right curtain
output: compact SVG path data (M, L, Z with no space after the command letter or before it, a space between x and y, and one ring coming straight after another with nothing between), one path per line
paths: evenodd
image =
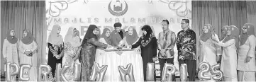
M254 25L245 23L240 33L235 25L225 25L219 40L212 25L204 25L199 40L199 62L206 61L211 66L221 62L224 81L255 81L254 29Z

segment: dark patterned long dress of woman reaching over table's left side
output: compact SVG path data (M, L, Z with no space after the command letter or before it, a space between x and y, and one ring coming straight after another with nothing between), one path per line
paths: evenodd
M99 42L95 38L91 38L86 41L87 42L84 42L84 44L82 44L82 52L79 57L79 60L82 63L82 81L89 81L89 77L91 76L92 72L92 66L94 65L95 61L96 47L108 47L108 45Z

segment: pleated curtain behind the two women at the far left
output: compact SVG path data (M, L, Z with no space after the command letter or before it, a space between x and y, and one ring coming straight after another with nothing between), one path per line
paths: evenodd
M21 40L23 30L32 31L38 44L37 57L39 64L45 63L46 44L45 1L1 1L1 45L6 38L6 31L14 28L16 37ZM1 50L2 50L1 46ZM1 71L4 71L3 54L1 51Z

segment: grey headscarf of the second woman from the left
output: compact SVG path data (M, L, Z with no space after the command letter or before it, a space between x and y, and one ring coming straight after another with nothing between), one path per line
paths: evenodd
M35 38L33 37L33 35L31 34L30 31L24 30L23 33L24 33L24 32L27 33L27 36L26 36L26 37L23 37L23 38L21 39L21 41L22 41L24 44L29 45L29 44L31 44L31 43L35 40Z

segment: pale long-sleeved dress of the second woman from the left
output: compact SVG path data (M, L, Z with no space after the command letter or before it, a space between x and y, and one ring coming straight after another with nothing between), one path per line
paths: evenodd
M24 44L22 41L19 42L18 46L18 51L19 51L19 56L20 56L20 63L21 64L29 64L30 65L30 70L24 71L25 77L28 76L26 73L29 73L29 81L37 81L37 56L36 56L36 49L38 49L38 45L36 44L35 41L30 43L29 45ZM32 57L28 57L25 52L26 51L32 51Z

